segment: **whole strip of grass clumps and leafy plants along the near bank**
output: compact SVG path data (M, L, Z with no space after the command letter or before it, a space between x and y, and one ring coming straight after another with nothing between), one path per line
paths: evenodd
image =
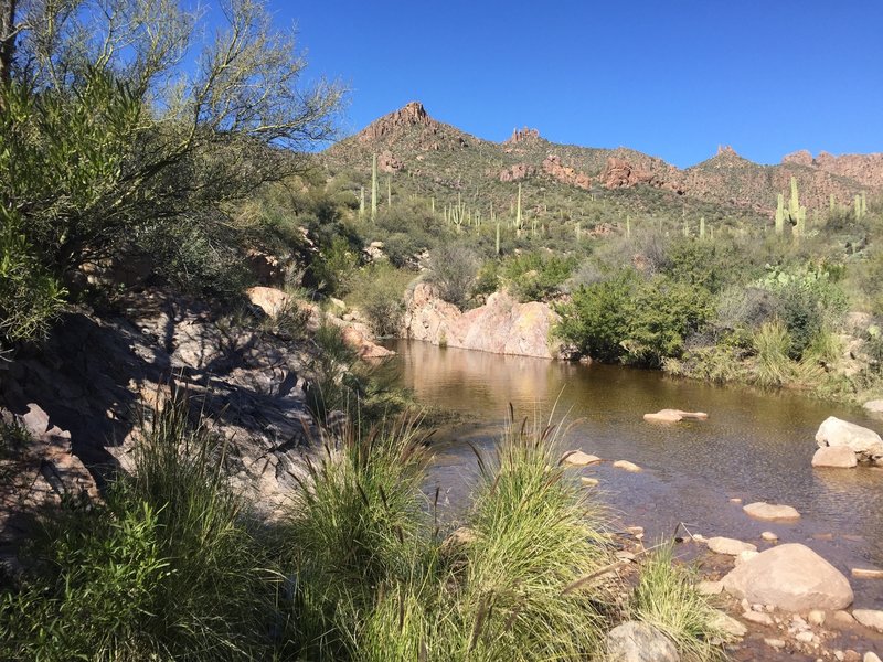
M287 517L266 523L187 399L160 406L104 503L41 519L0 595L8 659L603 659L625 618L687 660L720 656L714 612L670 557L634 592L617 574L603 506L556 460L556 426L510 420L455 522L422 491L417 423L327 447Z

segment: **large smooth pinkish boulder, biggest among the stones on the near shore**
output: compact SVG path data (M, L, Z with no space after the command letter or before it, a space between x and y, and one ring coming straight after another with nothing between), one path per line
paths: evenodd
M723 584L736 598L792 612L843 609L853 598L840 570L797 543L778 545L743 562Z

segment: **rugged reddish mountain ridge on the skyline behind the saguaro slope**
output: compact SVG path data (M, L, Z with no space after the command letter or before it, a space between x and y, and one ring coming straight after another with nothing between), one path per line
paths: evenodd
M787 193L796 178L800 202L810 210L827 210L833 194L851 204L862 191L883 192L883 154L815 159L795 152L776 166L762 166L721 147L713 158L679 169L662 159L628 149L598 149L560 145L536 129L515 129L503 142L482 140L434 119L419 102L412 102L341 140L322 154L332 170L370 172L372 157L385 175L397 178L398 189L412 194L446 199L471 193L491 203L509 204L512 184L531 189L531 202L547 211L549 196L565 196L571 206L579 200L613 200L624 213L652 213L660 205L695 213L768 217L778 193ZM582 207L581 207L582 209ZM539 207L538 207L539 210Z

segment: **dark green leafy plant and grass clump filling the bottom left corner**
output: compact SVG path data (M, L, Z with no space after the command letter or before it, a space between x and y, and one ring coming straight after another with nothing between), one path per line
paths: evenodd
M251 660L272 650L273 575L224 453L175 398L145 426L106 503L44 521L0 597L12 660Z

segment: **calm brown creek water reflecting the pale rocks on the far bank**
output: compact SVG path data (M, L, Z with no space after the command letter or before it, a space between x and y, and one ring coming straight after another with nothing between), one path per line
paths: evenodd
M800 542L847 576L851 567L883 567L883 469L812 469L816 430L828 416L876 429L860 408L796 393L765 394L675 380L620 366L558 363L400 341L401 381L417 398L468 415L472 423L440 430L432 481L456 513L475 478L469 444L492 448L509 404L517 416L555 410L568 429L563 448L606 460L626 459L643 471L609 462L575 470L600 479L605 501L621 524L641 525L647 538L670 537L679 523L705 536L749 541L760 532ZM704 421L660 426L642 415L662 408L709 413ZM432 489L435 489L433 485ZM743 503L795 506L795 523L759 522ZM859 607L883 608L883 581L850 579Z

